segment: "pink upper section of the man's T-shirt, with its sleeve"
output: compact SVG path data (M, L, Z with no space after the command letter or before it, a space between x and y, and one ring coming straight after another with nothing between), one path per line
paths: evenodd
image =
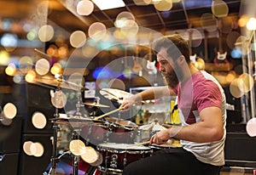
M193 111L210 106L222 107L222 94L218 85L207 79L201 71L197 71L183 84L178 84L175 89L177 93L177 106L183 112L187 124L195 123Z

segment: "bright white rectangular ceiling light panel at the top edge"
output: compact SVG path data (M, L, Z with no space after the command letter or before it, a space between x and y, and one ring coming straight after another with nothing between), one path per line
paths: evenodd
M123 0L92 0L101 10L125 7Z

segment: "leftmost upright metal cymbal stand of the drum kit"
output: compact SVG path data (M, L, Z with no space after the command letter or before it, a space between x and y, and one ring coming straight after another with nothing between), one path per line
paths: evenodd
M58 86L56 88L56 91L60 91L61 88L60 86ZM55 107L55 114L54 114L55 118L59 117L59 110L57 107ZM49 169L49 175L55 175L55 171L56 171L56 165L57 165L57 161L59 161L58 159L58 150L57 150L57 139L58 139L58 131L59 131L59 126L53 122L53 144L52 144L52 156L51 156L51 167Z

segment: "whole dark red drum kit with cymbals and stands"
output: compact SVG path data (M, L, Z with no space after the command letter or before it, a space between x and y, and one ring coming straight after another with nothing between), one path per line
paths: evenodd
M79 88L72 82L63 80L63 77L58 77L56 80L41 78L38 83L54 86L58 91L61 88ZM106 99L113 100L118 104L122 104L125 99L131 97L131 93L126 93L119 89L102 88L100 90L102 96ZM148 140L154 132L165 129L157 121L144 126L137 126L132 121L121 119L120 117L111 117L113 113L121 112L122 109L109 111L101 116L82 116L80 107L84 105L92 108L106 108L106 104L82 103L78 100L76 104L76 112L73 116L59 114L58 109L55 110L55 117L50 119L53 124L53 149L51 166L48 174L54 175L57 170L57 164L64 155L72 155L73 175L79 175L79 161L85 161L90 164L90 168L85 174L122 174L126 165L132 161L143 159L152 155L155 148L159 146L144 145L143 140L139 138L143 131L149 131ZM69 148L61 155L57 145L59 140L60 126L73 127L72 138L69 143ZM139 143L140 142L140 143ZM148 144L148 142L145 142ZM172 144L165 145L165 148L172 148ZM179 146L178 144L176 146Z

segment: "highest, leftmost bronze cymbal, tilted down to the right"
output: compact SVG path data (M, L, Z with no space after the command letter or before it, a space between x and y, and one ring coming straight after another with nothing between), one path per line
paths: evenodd
M55 78L53 76L37 76L33 79L34 83L44 83L49 86L67 88L73 90L88 90L88 88L84 88L82 85L76 84L74 82L67 82L63 78Z

